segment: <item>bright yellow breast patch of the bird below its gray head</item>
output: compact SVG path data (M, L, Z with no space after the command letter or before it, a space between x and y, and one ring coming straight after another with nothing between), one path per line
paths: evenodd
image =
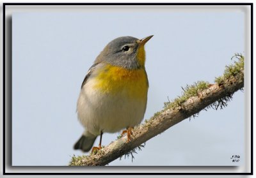
M102 93L124 93L129 98L147 98L148 79L144 68L128 70L107 64L95 80L95 89Z

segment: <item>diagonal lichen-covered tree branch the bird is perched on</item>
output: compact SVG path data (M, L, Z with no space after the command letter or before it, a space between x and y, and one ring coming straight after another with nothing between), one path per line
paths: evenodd
M195 117L200 110L226 107L227 101L232 99L232 94L243 89L244 86L244 57L239 54L235 56L239 61L226 66L224 74L216 78L215 84L196 82L186 89L182 88L184 90L182 96L165 103L161 112L157 112L154 117L134 128L130 142L127 142L126 137L122 137L100 149L96 154L73 156L70 166L107 165L127 152L134 151L136 147L180 121Z

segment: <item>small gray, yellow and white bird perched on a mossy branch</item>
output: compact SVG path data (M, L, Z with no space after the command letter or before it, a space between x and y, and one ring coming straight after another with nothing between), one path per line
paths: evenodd
M131 140L132 128L140 124L147 107L148 78L145 48L153 35L141 40L132 36L116 38L95 59L83 80L77 100L77 116L84 126L74 149L92 149L97 136L122 129Z

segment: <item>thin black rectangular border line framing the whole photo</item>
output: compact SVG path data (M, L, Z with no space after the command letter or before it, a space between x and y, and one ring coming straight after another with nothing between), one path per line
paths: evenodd
M24 173L24 172L6 172L5 170L5 60L6 55L5 55L5 25L6 25L6 20L5 20L5 10L6 6L53 6L53 5L58 5L58 6L95 6L95 5L103 5L103 6L118 6L118 5L132 5L132 6L164 6L164 5L172 5L172 6L210 6L210 5L217 5L217 6L230 6L230 5L244 5L244 6L250 6L251 8L251 98L253 98L253 3L3 3L3 175L253 175L253 100L251 100L251 131L252 131L252 136L251 136L251 172L242 172L242 173L217 173L217 172L207 172L207 173L202 173L202 172L191 172L191 173L172 173L172 172L154 172L154 173L148 173L148 172L143 172L143 173L132 173L132 172L120 172L120 173L95 173L95 172L89 172L89 173L80 173L80 172L74 172L74 173L64 173L64 172L53 172L53 173L47 173L47 172L36 172L36 173ZM12 92L12 91L11 91ZM12 93L11 93L12 96Z

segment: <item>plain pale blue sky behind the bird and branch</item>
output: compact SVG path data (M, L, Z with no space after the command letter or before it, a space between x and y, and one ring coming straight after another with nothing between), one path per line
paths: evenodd
M12 17L12 165L68 165L83 127L76 101L88 68L119 36L144 38L149 80L145 119L197 80L213 82L244 52L243 11L15 13ZM168 98L167 98L168 97ZM104 133L108 145L120 133ZM99 143L99 138L95 145ZM240 155L239 163L230 157ZM114 165L243 165L244 93L200 112Z

